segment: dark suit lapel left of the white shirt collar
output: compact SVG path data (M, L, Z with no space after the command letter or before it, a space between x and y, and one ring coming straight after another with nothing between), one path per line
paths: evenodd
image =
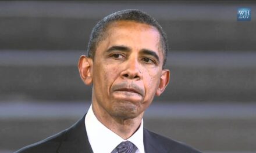
M86 126L84 125L83 116L77 123L67 129L62 138L62 143L59 147L59 153L67 152L93 152L91 145L88 141Z

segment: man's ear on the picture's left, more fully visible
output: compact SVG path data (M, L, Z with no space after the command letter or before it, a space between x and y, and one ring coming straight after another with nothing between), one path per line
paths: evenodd
M82 81L86 85L90 85L93 82L93 59L82 55L77 66Z

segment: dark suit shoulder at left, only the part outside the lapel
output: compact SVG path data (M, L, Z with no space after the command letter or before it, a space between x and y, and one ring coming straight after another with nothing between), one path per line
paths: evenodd
M59 132L53 136L48 137L47 139L38 141L37 143L28 145L15 153L30 153L30 152L56 152L61 144L63 136L65 136L66 130Z

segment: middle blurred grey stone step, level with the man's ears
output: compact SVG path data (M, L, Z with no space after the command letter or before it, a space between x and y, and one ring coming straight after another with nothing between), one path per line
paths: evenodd
M90 100L79 52L0 52L2 100ZM256 53L170 52L170 84L158 101L256 101Z

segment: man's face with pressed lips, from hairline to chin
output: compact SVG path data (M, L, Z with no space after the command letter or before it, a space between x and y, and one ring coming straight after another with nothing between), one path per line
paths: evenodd
M118 21L108 26L91 67L95 114L136 118L163 92L161 77L168 70L162 70L159 39L157 29L147 24Z

